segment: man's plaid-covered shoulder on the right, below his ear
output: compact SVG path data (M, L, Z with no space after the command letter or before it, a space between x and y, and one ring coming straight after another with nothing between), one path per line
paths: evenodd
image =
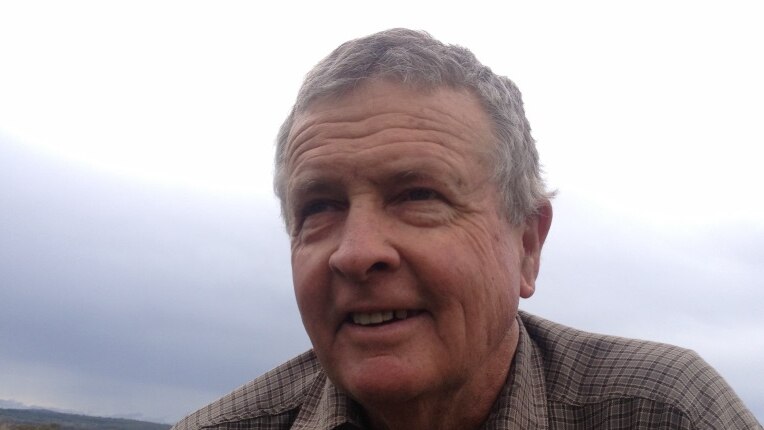
M551 402L589 409L630 402L707 428L748 428L745 423L753 420L724 379L694 351L587 333L527 313L520 317L542 356Z

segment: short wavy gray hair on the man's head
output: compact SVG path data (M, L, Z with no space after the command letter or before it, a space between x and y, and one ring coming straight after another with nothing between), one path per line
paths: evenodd
M498 141L494 180L509 220L522 223L552 197L541 177L517 86L494 74L466 48L443 44L423 31L396 28L343 43L305 77L276 142L274 190L287 228L291 223L286 210L286 147L295 116L319 97L339 97L370 79L393 80L416 89L447 86L470 90L494 125Z

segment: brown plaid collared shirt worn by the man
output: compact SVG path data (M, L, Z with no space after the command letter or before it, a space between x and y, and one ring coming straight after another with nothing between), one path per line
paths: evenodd
M483 429L761 429L692 351L520 312L512 371ZM465 407L469 407L465 405ZM187 429L363 429L306 352L180 421Z

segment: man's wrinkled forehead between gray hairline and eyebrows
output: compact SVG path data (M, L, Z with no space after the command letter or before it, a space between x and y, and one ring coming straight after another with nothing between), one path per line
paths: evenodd
M491 121L471 91L375 80L340 97L319 98L297 113L285 167L291 173L297 160L329 143L358 149L405 141L461 145L463 152L489 157L495 145Z

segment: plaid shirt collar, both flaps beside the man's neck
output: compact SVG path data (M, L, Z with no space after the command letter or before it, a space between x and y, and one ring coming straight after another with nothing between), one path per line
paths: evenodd
M483 430L549 428L541 353L525 330L520 316L516 320L520 330L512 368L488 420L483 424ZM360 429L364 428L363 422L361 407L340 392L322 372L308 392L292 428Z

